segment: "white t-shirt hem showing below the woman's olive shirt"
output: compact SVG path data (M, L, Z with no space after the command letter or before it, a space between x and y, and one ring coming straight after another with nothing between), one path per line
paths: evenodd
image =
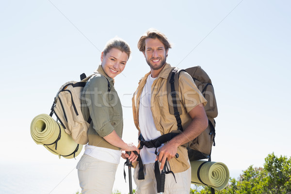
M105 147L85 146L84 154L87 154L100 161L119 164L121 157L121 150L114 150Z

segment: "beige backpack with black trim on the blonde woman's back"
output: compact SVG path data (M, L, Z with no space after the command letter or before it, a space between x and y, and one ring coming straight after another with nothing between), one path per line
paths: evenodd
M62 85L54 98L49 114L52 116L55 113L65 132L81 145L88 143L87 130L91 123L91 118L85 121L81 113L81 96L86 82L93 75L86 77L83 73L80 76L81 81L68 81Z

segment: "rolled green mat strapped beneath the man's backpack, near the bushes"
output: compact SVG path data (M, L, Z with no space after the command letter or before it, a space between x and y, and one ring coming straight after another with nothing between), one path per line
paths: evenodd
M207 185L217 191L223 190L229 180L229 170L222 162L192 161L191 183Z

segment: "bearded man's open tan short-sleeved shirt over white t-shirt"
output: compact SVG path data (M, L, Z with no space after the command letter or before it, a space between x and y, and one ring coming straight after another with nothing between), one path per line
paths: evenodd
M166 81L172 67L166 64L160 72L158 78L153 82L151 87L151 111L153 114L156 128L162 134L177 131L177 121L174 115L170 114L168 106L168 95L166 93ZM146 84L147 77L151 72L147 73L144 78L139 81L139 85L132 97L132 110L134 124L138 130L139 128L139 104L143 88ZM182 120L182 127L186 129L192 118L189 112L198 104L203 103L204 106L207 100L202 96L196 87L193 78L186 72L182 71L179 76L179 94L181 99L182 113L180 115ZM181 95L182 94L182 95ZM189 140L190 141L190 140ZM174 173L179 173L187 170L190 167L188 162L188 153L185 146L178 146L178 159L173 158L169 161L171 170Z

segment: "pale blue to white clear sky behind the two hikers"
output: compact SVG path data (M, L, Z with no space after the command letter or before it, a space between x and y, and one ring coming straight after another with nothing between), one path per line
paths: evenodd
M168 63L179 68L200 65L213 82L219 115L212 161L224 162L237 178L251 164L262 166L269 153L290 157L290 7L289 0L1 1L0 162L15 163L16 168L43 165L48 172L37 176L46 177L54 177L53 169L60 168L57 182L44 192L78 191L73 169L81 155L59 160L32 141L30 123L34 116L49 113L64 82L97 68L105 43L114 36L132 49L115 87L123 105L124 140L137 143L131 96L149 71L137 41L151 27L174 45ZM123 162L115 187L128 192Z

